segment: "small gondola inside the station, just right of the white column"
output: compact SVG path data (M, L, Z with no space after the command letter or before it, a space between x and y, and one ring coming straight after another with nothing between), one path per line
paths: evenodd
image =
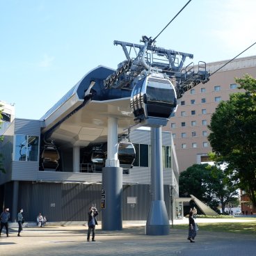
M135 147L130 142L120 141L118 144L118 159L120 167L122 168L132 168L136 157Z

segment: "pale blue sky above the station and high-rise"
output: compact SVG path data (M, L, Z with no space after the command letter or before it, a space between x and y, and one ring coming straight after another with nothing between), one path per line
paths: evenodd
M41 118L88 71L125 60L113 40L154 38L186 3L0 0L0 99L15 104L16 118ZM255 0L192 0L157 46L195 63L233 58L256 42L255 10ZM256 45L242 56L251 55Z

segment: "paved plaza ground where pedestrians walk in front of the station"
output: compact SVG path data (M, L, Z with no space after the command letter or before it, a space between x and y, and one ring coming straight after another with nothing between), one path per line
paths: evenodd
M188 220L184 220L186 222ZM99 225L96 229L96 241L88 242L86 232L87 227L84 225L48 225L25 227L22 237L17 237L17 227L11 225L10 237L6 237L5 230L2 231L0 255L240 256L255 255L256 251L256 237L248 234L199 230L195 243L190 243L186 240L187 230L172 227L167 236L147 236L145 225L123 225L122 231L113 232L101 230Z

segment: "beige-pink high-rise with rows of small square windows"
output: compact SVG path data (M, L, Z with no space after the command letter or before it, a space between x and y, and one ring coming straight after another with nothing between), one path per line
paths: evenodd
M230 94L241 91L237 89L235 77L250 74L256 77L256 56L237 58L228 61L218 61L207 64L207 70L212 74L210 80L187 91L179 99L175 115L170 118L163 130L172 131L177 153L179 172L186 170L194 163L208 161L207 153L211 145L207 140L211 114L222 100L228 100ZM216 70L215 74L213 74Z

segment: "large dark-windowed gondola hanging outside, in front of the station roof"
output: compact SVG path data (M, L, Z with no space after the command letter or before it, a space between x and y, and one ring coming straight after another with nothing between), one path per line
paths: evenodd
M163 74L147 75L135 84L130 105L136 122L151 127L166 125L177 106L173 83Z

